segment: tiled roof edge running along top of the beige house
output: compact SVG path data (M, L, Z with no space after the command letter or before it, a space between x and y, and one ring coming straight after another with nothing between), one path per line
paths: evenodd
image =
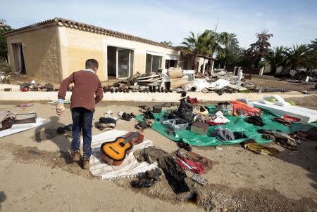
M54 19L50 19L50 20L44 20L42 22L38 22L36 24L33 25L28 25L26 27L21 27L18 29L13 29L10 32L6 33L6 37L12 35L12 34L18 34L21 32L27 32L27 31L32 31L32 30L36 30L36 29L40 29L40 28L45 28L45 27L51 27L53 25L59 25L59 26L63 26L63 27L69 27L69 28L73 28L73 29L79 29L79 30L83 30L83 31L87 31L87 32L92 32L92 33L97 33L97 34L104 34L106 36L111 36L111 37L116 37L119 39L126 39L126 40L130 40L130 41L137 41L137 42L141 42L144 44L151 44L154 46L161 46L164 48L170 48L173 50L178 50L178 48L175 48L173 46L168 46L166 44L161 44L159 42L156 41L151 41L148 39L143 39L141 37L135 37L133 35L130 34L125 34L122 32L117 32L117 31L113 31L110 29L105 29L102 27L96 27L94 25L87 25L85 23L82 22L77 22L74 20L68 20L68 19L64 19L64 18L54 18Z

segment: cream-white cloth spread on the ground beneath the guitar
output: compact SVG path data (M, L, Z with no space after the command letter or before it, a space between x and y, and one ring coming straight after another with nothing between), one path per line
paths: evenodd
M148 164L147 162L139 163L133 156L133 152L136 150L142 150L146 147L153 146L151 140L144 138L143 142L135 145L132 151L125 157L123 164L120 166L110 166L101 159L100 157L100 146L106 141L112 141L119 136L125 135L127 131L112 130L100 133L92 136L92 157L90 158L90 172L92 175L97 176L101 180L123 178L138 173L144 173L145 171L151 170L157 167L157 163Z

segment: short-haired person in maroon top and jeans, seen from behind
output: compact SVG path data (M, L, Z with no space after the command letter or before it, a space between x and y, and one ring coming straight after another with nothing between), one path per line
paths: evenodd
M56 114L60 116L65 110L63 102L68 86L74 83L75 86L70 98L70 110L73 119L71 155L73 161L80 161L80 131L82 131L84 140L82 164L85 169L89 168L89 159L92 154L92 117L94 107L104 97L101 82L96 74L97 69L97 60L89 59L86 60L86 69L73 72L73 74L64 79L59 87L58 105L56 106Z

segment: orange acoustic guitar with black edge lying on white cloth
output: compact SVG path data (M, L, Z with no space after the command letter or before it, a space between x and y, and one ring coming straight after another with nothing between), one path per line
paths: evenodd
M123 164L125 155L130 152L133 144L141 143L144 135L138 132L128 133L125 137L118 137L116 140L101 145L100 156L112 166Z

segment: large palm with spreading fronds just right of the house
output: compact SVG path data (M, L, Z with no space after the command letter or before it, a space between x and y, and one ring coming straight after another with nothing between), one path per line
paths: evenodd
M195 35L193 32L189 32L189 37L184 38L182 42L182 51L186 53L192 53L194 60L192 63L192 69L197 69L197 57L198 55L213 56L219 54L225 55L225 48L230 45L231 34L227 32L213 32L206 29L204 33Z

